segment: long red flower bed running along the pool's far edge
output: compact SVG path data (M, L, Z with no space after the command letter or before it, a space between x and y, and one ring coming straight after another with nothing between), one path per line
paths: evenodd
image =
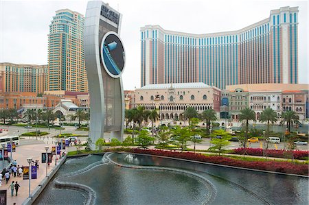
M211 162L214 164L229 165L233 167L245 167L250 169L277 171L282 173L295 173L308 176L308 165L297 165L292 162L245 161L231 159L225 156L205 156L203 154L194 154L192 152L170 152L158 149L131 149L130 152L138 154L152 154L174 158L183 158L187 160L196 160L201 162Z

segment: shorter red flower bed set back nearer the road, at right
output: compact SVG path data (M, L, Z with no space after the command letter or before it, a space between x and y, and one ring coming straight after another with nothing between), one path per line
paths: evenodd
M253 156L263 156L263 149L260 148L238 148L233 149L233 154L244 154L247 151L247 154L253 155ZM267 156L271 157L278 157L278 158L286 158L286 156L289 156L291 154L290 151L284 150L284 149L267 149L266 150ZM308 158L309 151L293 151L293 155L295 159L301 160L303 158Z

